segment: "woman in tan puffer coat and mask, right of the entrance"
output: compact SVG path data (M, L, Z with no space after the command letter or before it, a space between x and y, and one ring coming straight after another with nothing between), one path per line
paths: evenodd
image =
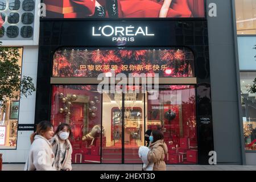
M168 148L163 140L163 133L160 130L153 130L150 137L150 152L148 152L148 162L154 163L153 171L166 171L164 155L167 154Z

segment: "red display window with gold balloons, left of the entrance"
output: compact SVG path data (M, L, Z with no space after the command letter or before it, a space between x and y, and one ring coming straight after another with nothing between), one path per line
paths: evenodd
M51 122L71 125L73 163L100 163L101 94L93 85L52 86ZM102 127L102 133L103 132Z

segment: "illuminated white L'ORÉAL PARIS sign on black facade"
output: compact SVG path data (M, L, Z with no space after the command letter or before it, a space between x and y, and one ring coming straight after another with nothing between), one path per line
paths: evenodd
M150 32L148 27L113 27L110 25L103 27L92 27L92 35L112 37L113 42L134 42L136 36L155 36L155 34Z

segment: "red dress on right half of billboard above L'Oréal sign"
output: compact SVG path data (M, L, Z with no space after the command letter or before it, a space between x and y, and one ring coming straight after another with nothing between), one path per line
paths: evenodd
M119 18L159 18L163 1L119 0ZM122 16L122 17L120 17ZM192 16L187 0L172 0L167 18L189 18Z

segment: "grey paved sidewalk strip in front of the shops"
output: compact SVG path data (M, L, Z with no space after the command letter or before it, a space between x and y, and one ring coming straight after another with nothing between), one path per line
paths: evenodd
M3 171L23 171L25 164L3 164ZM141 171L141 164L73 164L74 171ZM256 166L167 165L167 171L256 171Z

